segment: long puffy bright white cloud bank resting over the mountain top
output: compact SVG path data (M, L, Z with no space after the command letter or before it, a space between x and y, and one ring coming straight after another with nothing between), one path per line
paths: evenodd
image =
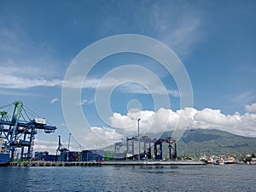
M178 129L219 129L229 133L247 137L256 137L256 114L245 113L240 115L225 115L221 110L209 108L196 110L185 108L183 110L167 110L161 108L154 112L150 110L136 113L128 112L126 115L114 113L110 117L111 125L118 127L124 135L137 135L137 119L140 121L140 133L158 135L165 131ZM189 120L189 123L187 123Z

